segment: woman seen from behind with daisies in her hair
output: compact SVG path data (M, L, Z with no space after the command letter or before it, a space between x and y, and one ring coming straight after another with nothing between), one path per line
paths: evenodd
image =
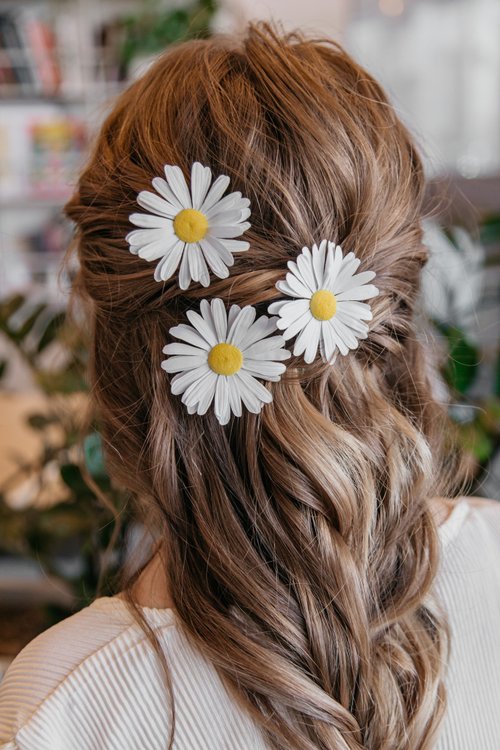
M14 661L2 748L499 746L500 510L439 499L423 188L332 43L251 26L120 97L67 213L154 548Z

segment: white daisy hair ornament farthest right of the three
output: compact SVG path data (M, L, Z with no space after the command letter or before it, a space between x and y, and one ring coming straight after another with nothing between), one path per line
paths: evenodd
M354 253L345 257L342 248L323 240L320 246L302 249L297 262L289 261L285 281L276 287L293 300L279 300L269 305L271 314L278 314L277 327L285 340L297 335L293 353L304 355L306 362L321 356L332 362L337 350L345 355L368 335L364 322L372 319L370 305L362 300L378 294L369 284L373 271L356 274L360 260Z

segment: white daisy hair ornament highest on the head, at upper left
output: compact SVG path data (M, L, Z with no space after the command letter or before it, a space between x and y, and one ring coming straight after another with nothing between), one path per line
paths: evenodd
M156 193L143 190L137 203L149 213L134 213L130 221L139 229L127 234L130 252L144 260L159 260L154 277L166 281L179 270L179 286L191 281L210 284L209 269L221 279L229 276L233 253L248 250L249 243L237 240L250 227L250 201L241 193L222 197L229 177L212 183L209 167L195 162L188 188L180 167L166 165L165 179L155 177Z

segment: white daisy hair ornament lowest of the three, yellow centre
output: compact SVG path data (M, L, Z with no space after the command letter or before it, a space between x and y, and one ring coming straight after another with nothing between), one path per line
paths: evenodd
M242 404L258 414L273 397L257 378L278 381L286 369L282 360L291 356L283 336L270 335L276 334L276 318L256 319L251 305L232 305L226 313L221 299L201 300L200 313L188 310L192 325L170 329L182 342L163 349L169 356L161 366L175 373L172 393L182 394L190 414L205 414L215 401L220 424L227 424L231 412L241 417Z

